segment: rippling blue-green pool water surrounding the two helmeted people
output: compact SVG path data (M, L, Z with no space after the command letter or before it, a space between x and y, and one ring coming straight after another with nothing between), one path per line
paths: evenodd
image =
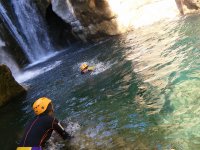
M32 102L47 96L75 135L47 149L200 149L199 22L196 15L157 23L29 68L56 64L0 109L1 148L15 148ZM97 71L81 75L82 62Z

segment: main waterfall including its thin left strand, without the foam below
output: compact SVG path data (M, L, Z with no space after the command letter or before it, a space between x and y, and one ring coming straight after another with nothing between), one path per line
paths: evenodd
M48 56L53 46L47 34L43 18L33 0L11 0L14 19L0 4L0 16L6 23L18 44L24 50L31 63ZM14 21L16 20L16 21Z

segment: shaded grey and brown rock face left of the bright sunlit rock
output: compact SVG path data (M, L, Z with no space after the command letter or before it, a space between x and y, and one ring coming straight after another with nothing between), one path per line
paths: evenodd
M72 27L74 34L85 37L116 35L116 14L108 0L52 0L53 11Z

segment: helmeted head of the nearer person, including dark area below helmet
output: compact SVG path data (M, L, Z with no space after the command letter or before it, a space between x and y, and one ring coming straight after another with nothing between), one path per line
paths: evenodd
M53 115L53 104L47 97L41 97L33 103L33 110L36 115Z

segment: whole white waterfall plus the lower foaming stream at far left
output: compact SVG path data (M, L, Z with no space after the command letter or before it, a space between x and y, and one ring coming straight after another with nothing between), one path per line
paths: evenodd
M11 12L12 11L12 12ZM11 0L0 2L0 17L6 27L26 54L32 66L52 57L53 45L47 33L45 22L40 16L36 4L32 0ZM4 42L2 42L3 44ZM2 45L1 44L1 45ZM2 45L3 46L3 45ZM6 64L18 82L24 82L44 73L51 68L25 69L22 73L12 56L3 48L0 49L0 63Z

